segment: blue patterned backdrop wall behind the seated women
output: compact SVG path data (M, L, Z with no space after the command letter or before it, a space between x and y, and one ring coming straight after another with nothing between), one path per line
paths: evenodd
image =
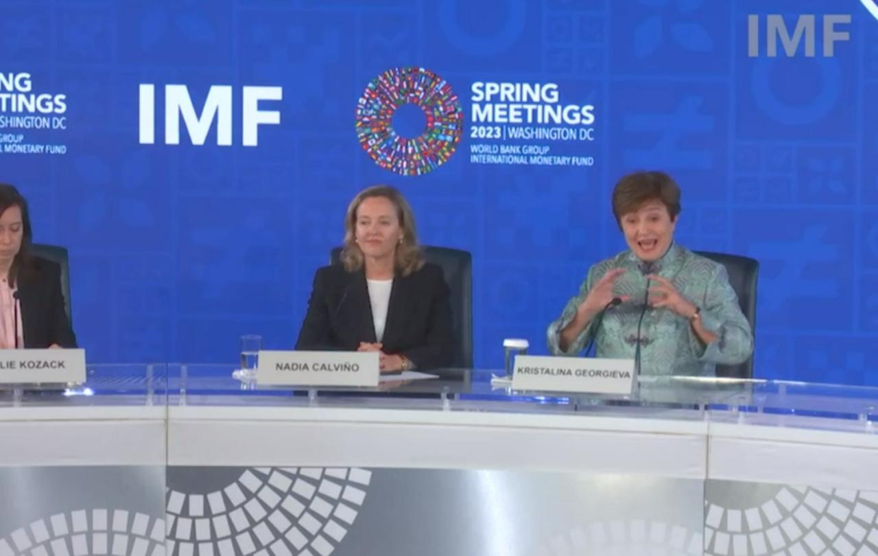
M680 242L762 263L759 376L878 384L871 0L4 0L3 12L0 181L31 201L37 241L70 249L91 361L231 363L245 333L291 347L349 199L377 183L406 193L422 242L472 252L477 365L500 366L504 336L544 352L588 266L623 249L615 179L659 168L683 189ZM442 106L462 118L459 143L421 176L379 167L355 129L367 85L404 67L445 80ZM502 105L529 99L480 102L487 83L554 88L507 122ZM174 84L194 117L212 86L230 87L214 87L203 145L185 123L167 144ZM273 88L258 90L262 112L245 110L245 87ZM579 121L535 119L566 106ZM270 112L279 123L246 146L244 128ZM417 110L393 122L428 123Z

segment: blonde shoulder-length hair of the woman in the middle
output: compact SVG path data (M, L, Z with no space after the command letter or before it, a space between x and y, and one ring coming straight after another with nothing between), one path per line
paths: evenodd
M414 226L414 213L408 201L398 189L390 185L373 185L356 194L350 201L348 213L344 217L344 247L340 259L346 271L363 268L363 251L356 244L356 211L363 200L371 197L384 197L396 207L396 217L402 230L402 241L393 252L393 267L401 276L408 276L424 265L418 233Z

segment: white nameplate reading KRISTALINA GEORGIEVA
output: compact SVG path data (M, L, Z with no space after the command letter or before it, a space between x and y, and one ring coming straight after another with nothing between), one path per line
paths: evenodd
M515 356L515 390L631 394L634 359Z

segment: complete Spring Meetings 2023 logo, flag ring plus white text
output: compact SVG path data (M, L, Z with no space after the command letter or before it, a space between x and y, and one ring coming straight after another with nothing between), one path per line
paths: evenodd
M469 122L457 93L429 69L388 69L363 90L356 135L385 170L421 176L448 162L462 138L470 164L594 166L593 91L570 83L476 79Z

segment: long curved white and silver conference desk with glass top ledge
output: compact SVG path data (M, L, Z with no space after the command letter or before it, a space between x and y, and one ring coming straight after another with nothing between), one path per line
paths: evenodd
M0 393L0 556L878 554L867 388L679 379L624 401L167 371Z

